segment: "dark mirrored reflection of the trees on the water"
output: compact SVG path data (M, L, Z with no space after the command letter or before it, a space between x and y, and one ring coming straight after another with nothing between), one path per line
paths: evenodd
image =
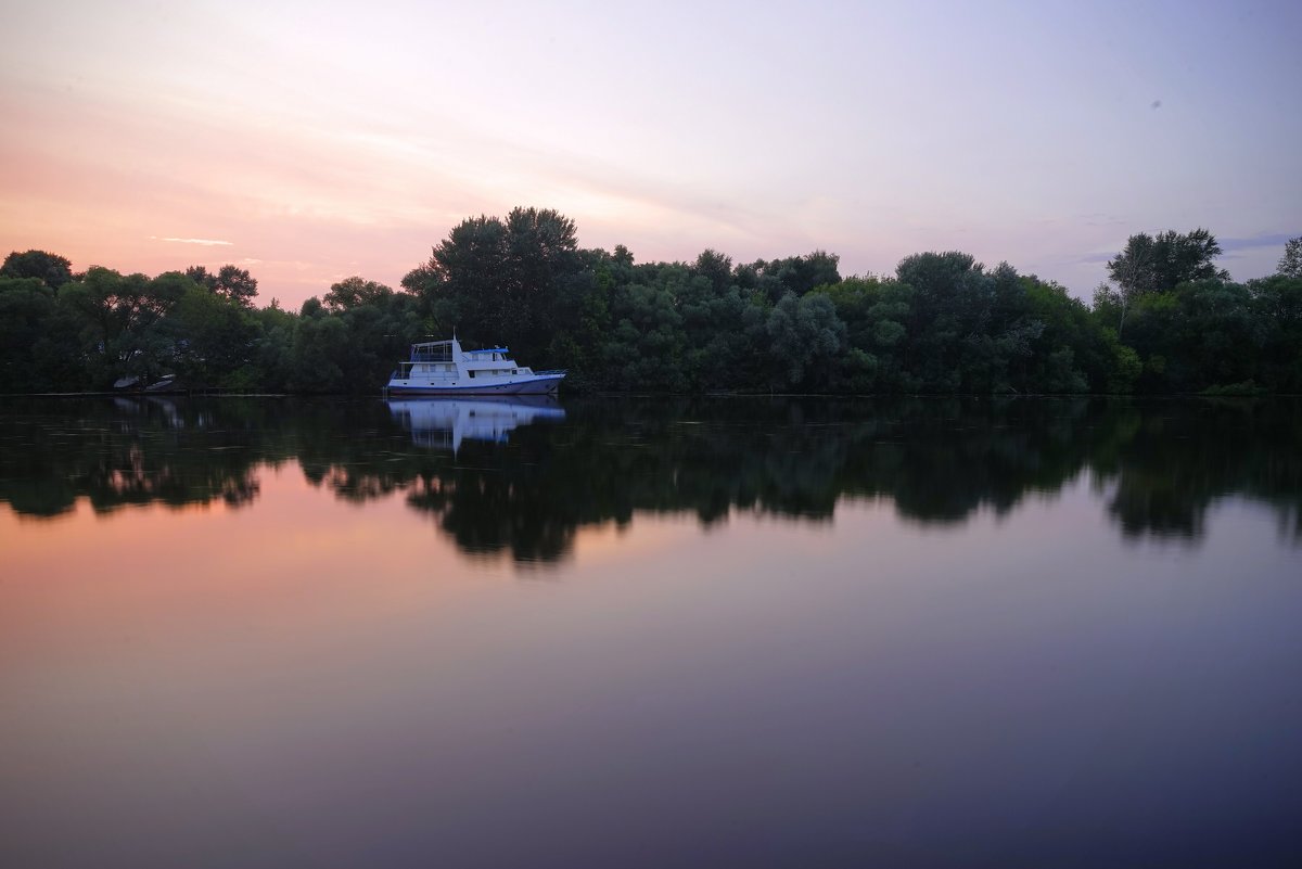
M1302 403L1282 399L621 399L452 454L417 446L381 402L10 401L0 500L33 516L78 498L238 506L259 464L293 458L340 498L401 493L465 552L551 561L578 528L635 513L824 522L841 500L883 498L957 524L1090 472L1128 539L1198 540L1210 507L1242 496L1298 541L1299 434Z

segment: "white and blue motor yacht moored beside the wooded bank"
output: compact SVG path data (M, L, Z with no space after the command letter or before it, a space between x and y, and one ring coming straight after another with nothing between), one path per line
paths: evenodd
M512 360L506 347L462 350L450 341L411 345L384 392L391 395L546 395L555 393L564 371L534 371Z

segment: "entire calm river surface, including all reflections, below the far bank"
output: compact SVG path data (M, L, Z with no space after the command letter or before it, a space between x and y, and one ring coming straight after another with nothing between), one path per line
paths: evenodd
M1302 403L0 399L5 866L1302 865Z

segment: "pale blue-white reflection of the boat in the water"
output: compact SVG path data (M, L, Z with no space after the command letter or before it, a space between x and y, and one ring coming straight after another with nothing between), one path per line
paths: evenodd
M389 412L411 432L417 446L461 449L461 441L505 444L521 425L562 420L565 410L553 395L493 395L389 399Z

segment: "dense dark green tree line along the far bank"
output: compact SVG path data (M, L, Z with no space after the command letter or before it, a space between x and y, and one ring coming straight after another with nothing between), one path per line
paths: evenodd
M375 393L408 346L508 345L579 392L1299 393L1302 238L1238 284L1206 229L1131 235L1092 304L958 251L842 277L815 251L736 264L581 248L547 209L473 217L398 289L350 277L299 311L225 265L156 277L46 251L0 267L0 392Z

